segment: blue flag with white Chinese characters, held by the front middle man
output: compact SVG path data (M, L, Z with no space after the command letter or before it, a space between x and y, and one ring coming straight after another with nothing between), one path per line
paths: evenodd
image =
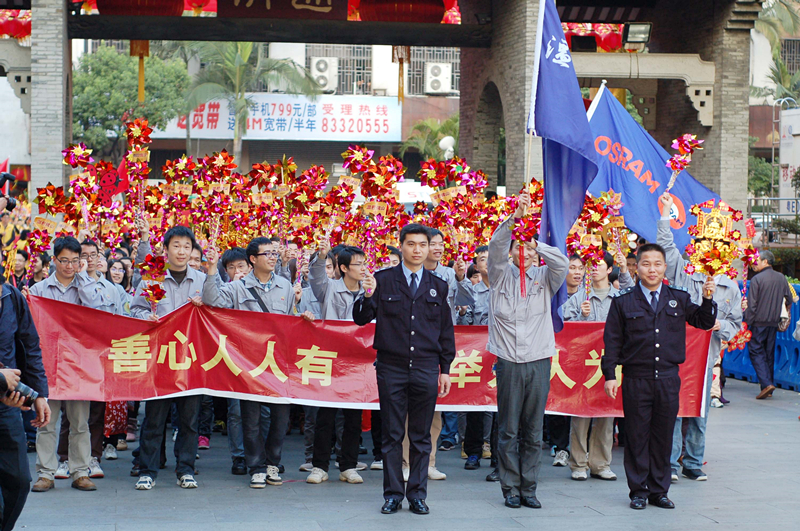
M567 234L578 219L586 189L597 174L597 156L572 56L553 0L539 3L536 36L528 133L542 137L544 204L539 238L566 254ZM566 300L564 285L552 302L556 332L564 326L558 310Z

